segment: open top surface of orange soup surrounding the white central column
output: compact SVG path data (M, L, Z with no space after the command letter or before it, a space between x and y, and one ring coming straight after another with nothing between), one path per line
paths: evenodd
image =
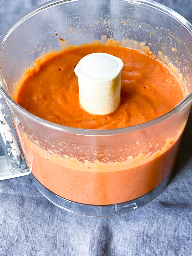
M105 52L124 62L121 102L105 116L87 113L79 104L74 68L86 55ZM16 101L53 123L84 129L113 129L141 124L170 111L183 98L175 76L160 61L120 46L87 45L45 60L21 84Z

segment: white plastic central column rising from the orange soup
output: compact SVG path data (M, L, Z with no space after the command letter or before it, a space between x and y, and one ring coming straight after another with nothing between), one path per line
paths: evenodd
M79 101L87 112L107 115L120 103L123 61L108 53L92 53L75 68L79 82Z

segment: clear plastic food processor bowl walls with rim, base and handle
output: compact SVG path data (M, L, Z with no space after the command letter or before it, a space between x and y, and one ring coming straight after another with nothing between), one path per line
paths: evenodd
M110 38L147 46L182 83L183 100L156 119L110 130L55 124L15 102L20 78L40 56ZM150 0L50 1L19 20L0 37L0 180L29 174L53 204L86 216L152 201L172 176L192 104L191 40L187 20Z

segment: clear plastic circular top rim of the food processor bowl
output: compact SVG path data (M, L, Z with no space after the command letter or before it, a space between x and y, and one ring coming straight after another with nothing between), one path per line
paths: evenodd
M63 4L63 3L67 3L67 2L77 2L77 1L82 1L82 0L59 0L59 1L58 0L52 0L52 1L46 2L44 4L41 4L34 11L29 12L26 16L24 16L22 19L20 19L18 22L16 22L15 25L13 25L11 28L9 28L6 32L4 32L0 36L0 50L3 46L3 44L5 43L6 38L12 33L12 31L14 31L15 28L17 28L21 23L23 23L28 18L30 18L33 15L37 14L38 12L41 12L44 9L50 8L54 5ZM165 12L167 15L169 15L172 18L178 20L182 24L182 26L187 28L188 32L191 34L191 37L192 37L192 25L183 16L181 16L179 13L173 11L169 7L166 7L163 4L159 4L159 3L154 2L152 0L120 0L120 1L126 1L126 2L129 2L131 4L145 4L145 5L148 5L150 7L156 8L159 11ZM161 123L161 122L165 121L166 119L168 119L168 118L172 117L173 115L175 115L176 113L180 112L183 108L185 108L186 106L188 106L192 102L192 92L191 92L186 97L184 97L183 100L181 100L180 104L178 104L175 108L173 108L169 112L165 113L164 115L159 116L159 117L157 117L155 119L152 119L148 122L145 122L143 124L137 124L137 125L133 125L133 126L128 126L128 127L124 127L124 128L116 128L116 129L103 129L103 130L102 129L101 130L100 129L99 130L96 130L96 129L81 129L81 128L68 127L68 126L65 126L65 125L52 123L50 121L47 121L47 120L45 120L41 117L38 117L38 116L30 113L28 110L22 108L16 101L14 101L9 96L9 94L5 91L4 87L1 86L1 82L2 82L1 81L1 76L3 77L2 72L0 70L0 92L1 92L2 96L10 104L10 106L14 106L21 114L26 115L28 118L30 118L31 120L33 120L37 123L40 123L42 125L45 125L46 127L55 129L57 131L68 132L68 133L79 134L79 135L86 135L86 136L87 135L91 135L91 136L116 135L116 134L121 134L121 133L127 133L127 132L134 132L134 131L142 130L142 129L145 129L149 126L153 126L155 124L158 124L158 123Z

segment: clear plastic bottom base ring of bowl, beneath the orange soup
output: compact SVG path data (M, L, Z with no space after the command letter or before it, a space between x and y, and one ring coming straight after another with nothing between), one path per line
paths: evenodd
M127 201L120 204L108 204L108 205L91 205L91 204L80 204L73 201L69 201L65 198L55 195L50 190L45 188L31 173L30 177L33 180L36 188L40 193L45 196L50 202L59 206L60 208L73 212L76 214L92 217L109 217L120 214L132 212L140 207L145 206L151 202L156 196L158 196L169 183L172 177L173 170L169 175L162 181L156 188L148 192L147 194L140 196L134 200Z

